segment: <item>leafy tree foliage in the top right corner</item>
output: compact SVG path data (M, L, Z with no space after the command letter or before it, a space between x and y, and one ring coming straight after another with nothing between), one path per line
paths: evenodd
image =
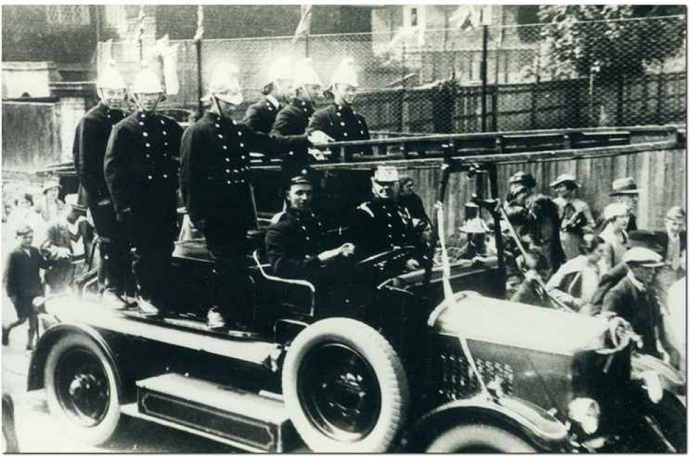
M683 13L681 6L541 6L541 68L552 77L642 75L683 50L686 20L664 17Z

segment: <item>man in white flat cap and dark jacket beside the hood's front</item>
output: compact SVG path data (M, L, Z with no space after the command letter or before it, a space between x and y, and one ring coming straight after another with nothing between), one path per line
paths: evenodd
M662 359L658 341L668 353L675 350L665 337L663 314L651 282L665 263L658 253L643 247L629 249L622 262L626 276L607 292L602 311L626 319L642 339L639 351Z

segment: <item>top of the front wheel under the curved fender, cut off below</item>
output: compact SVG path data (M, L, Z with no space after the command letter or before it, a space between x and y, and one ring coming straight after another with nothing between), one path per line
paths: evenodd
M435 438L428 453L534 453L536 450L517 435L484 424L449 428Z

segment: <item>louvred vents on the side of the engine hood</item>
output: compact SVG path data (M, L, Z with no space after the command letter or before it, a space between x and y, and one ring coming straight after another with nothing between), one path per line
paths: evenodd
M514 372L509 364L476 359L476 365L488 385L498 380L506 395L513 394ZM461 399L479 391L478 380L463 356L443 353L440 355L440 394L448 399Z

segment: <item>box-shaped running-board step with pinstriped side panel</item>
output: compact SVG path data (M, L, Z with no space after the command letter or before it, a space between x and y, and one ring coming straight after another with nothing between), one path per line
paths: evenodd
M298 438L282 401L177 373L139 380L137 417L198 431L247 451L284 452ZM132 414L132 410L124 410Z

